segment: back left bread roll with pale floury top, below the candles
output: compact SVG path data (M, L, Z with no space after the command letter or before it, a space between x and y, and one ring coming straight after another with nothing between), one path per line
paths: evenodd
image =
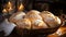
M18 22L18 20L22 20L24 17L24 12L14 13L9 20L10 22Z

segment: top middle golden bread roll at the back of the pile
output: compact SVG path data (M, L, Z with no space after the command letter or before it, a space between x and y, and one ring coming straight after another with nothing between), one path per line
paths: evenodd
M26 13L25 18L30 18L31 21L42 20L41 15L38 15L37 13L37 11L32 10L29 13Z

